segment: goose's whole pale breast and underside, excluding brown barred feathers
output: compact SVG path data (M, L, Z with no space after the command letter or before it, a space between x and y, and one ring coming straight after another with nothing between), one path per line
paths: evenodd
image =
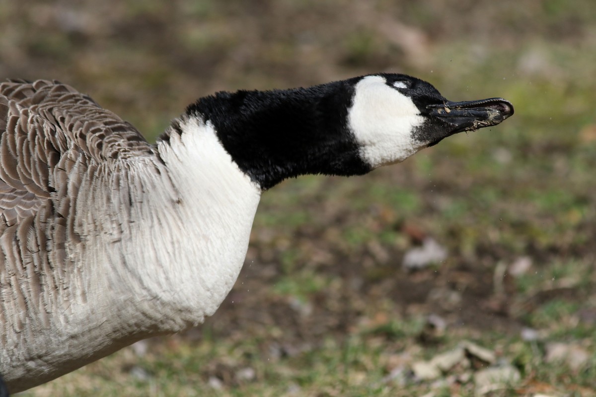
M42 319L24 311L28 332L11 327L4 336L0 372L15 390L199 324L234 285L260 189L211 126L191 119L183 127L170 145L159 143L164 164L135 158L108 179L82 182L75 217L85 248L67 250L74 268L43 276L62 286L45 299L52 315L38 326Z

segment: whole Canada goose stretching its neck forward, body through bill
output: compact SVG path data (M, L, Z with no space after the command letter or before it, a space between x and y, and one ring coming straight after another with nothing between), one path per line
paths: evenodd
M70 86L0 84L0 373L20 392L203 322L263 191L365 174L513 114L402 74L198 99L150 145Z

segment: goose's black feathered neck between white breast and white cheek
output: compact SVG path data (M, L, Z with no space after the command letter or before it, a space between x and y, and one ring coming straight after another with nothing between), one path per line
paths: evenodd
M347 128L353 83L274 91L219 92L187 114L210 121L232 159L265 190L301 174L371 170Z

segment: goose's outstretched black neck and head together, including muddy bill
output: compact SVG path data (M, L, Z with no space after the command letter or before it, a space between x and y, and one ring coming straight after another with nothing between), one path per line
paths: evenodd
M219 92L187 108L262 190L302 174L361 175L513 114L500 98L452 102L405 74L308 88Z

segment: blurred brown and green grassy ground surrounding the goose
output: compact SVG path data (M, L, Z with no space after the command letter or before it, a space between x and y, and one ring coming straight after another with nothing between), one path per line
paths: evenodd
M0 77L69 83L150 140L216 90L377 71L516 107L365 177L275 187L203 326L24 395L596 395L595 70L591 0L0 0ZM403 270L429 238L446 259ZM470 340L491 360L420 372Z

